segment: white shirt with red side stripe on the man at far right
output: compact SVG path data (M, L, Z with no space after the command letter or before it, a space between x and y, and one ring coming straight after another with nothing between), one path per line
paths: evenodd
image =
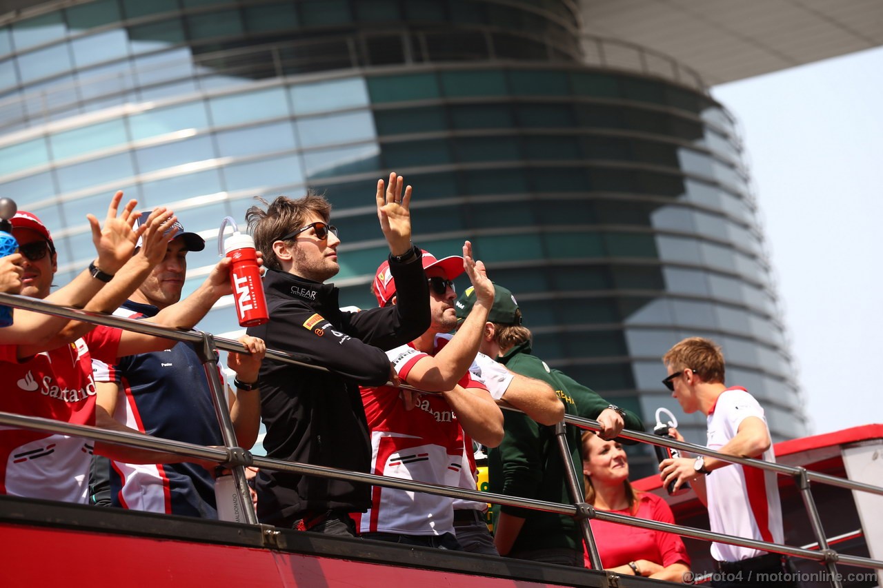
M724 390L708 414L708 448L721 449L736 436L739 425L748 417L760 418L766 425L763 408L745 388ZM775 463L772 447L764 452L762 459ZM775 472L731 464L706 476L706 492L712 531L746 539L784 542ZM711 551L719 562L739 562L766 554L758 549L724 543L713 543Z

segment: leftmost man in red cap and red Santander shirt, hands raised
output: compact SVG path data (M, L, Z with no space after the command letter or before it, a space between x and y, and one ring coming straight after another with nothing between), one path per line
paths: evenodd
M55 244L37 216L19 211L11 224L24 258L21 293L96 312L109 312L122 302L160 259L162 231L176 220L171 211L158 208L142 228L132 230L135 201L117 215L122 196L123 192L114 195L103 226L88 215L98 257L72 283L52 294L49 290L58 267ZM145 245L132 256L138 237ZM0 411L93 425L91 356L113 361L138 346L162 348L164 344L165 340L155 337L19 310L13 324L0 329L4 373ZM85 502L92 449L89 441L79 438L5 429L0 436L0 459L9 465L0 491Z

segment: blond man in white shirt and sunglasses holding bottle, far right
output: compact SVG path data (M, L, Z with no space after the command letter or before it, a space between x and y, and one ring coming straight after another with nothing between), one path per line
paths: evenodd
M668 377L662 381L684 412L700 411L708 418L709 449L739 457L775 462L764 410L741 386L724 383L724 359L713 341L691 337L675 344L662 357ZM683 436L671 429L675 438ZM698 498L708 508L714 532L746 539L783 542L781 503L773 471L730 464L716 457L669 458L660 464L662 485L675 482L675 489L690 481ZM788 571L779 554L751 547L713 543L721 580L713 586L748 586L759 573ZM789 585L782 577L777 585ZM792 584L793 585L793 584Z

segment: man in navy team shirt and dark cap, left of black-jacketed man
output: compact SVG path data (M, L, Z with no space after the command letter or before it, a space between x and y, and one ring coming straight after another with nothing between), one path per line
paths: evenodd
M180 300L187 254L202 251L206 242L198 234L186 232L180 223L175 229L177 232L168 232L162 260L114 314L132 319L151 317ZM191 295L195 301L191 321L200 320L229 288L229 280L215 268ZM236 373L237 392L230 394L228 407L238 445L249 449L260 427L257 380L265 348L256 337L245 335L239 341L250 354L230 353L228 363ZM193 343L178 342L167 351L130 355L114 366L95 360L93 368L97 426L199 445L223 445L212 390ZM125 459L112 464L95 456L89 501L100 506L217 518L211 474L215 465L177 460L148 449L127 449Z

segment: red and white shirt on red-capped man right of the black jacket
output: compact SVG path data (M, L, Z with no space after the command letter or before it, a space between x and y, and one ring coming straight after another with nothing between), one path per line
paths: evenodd
M436 337L434 352L448 341L449 337ZM411 368L421 358L429 357L411 345L387 351L387 355L403 381L407 381ZM469 372L458 383L463 388L487 389ZM405 411L397 388L381 386L361 388L361 391L371 429L371 473L445 486L460 484L461 471L470 465L464 461L457 416L442 396L418 395L415 408ZM403 535L454 532L451 498L374 486L371 502L365 514L355 516L359 532Z

